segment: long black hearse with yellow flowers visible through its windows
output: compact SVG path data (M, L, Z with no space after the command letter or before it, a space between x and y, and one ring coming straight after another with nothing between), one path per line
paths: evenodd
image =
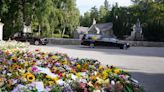
M90 47L95 47L95 46L118 47L120 49L127 49L130 47L129 43L120 42L116 38L101 37L100 35L84 35L81 39L81 45L86 45Z

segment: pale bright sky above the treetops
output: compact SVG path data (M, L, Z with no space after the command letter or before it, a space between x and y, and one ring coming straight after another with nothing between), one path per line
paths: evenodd
M77 7L80 10L80 14L83 15L86 11L89 11L91 7L96 6L99 8L104 5L105 0L76 0ZM108 0L110 5L118 2L119 6L129 6L131 5L130 0Z

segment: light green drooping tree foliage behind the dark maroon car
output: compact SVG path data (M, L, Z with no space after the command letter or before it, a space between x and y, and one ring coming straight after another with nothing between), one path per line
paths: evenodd
M4 36L22 31L23 25L31 25L41 36L49 37L54 31L67 29L67 33L79 25L79 10L75 0L1 0L0 18L5 24Z

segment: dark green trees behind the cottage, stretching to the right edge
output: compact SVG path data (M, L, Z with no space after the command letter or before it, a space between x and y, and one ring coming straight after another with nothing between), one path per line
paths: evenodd
M97 23L113 22L114 34L121 39L130 35L132 26L137 19L143 28L144 39L148 41L164 41L164 0L131 0L133 5L119 7L116 3L111 9L107 0L98 10L96 7L91 12L81 16L81 26L90 27L93 18Z

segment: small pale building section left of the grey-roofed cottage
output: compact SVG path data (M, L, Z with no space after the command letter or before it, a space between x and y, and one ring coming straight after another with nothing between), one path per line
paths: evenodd
M78 27L74 32L73 32L73 38L75 39L81 39L81 37L84 34L88 34L88 27Z

